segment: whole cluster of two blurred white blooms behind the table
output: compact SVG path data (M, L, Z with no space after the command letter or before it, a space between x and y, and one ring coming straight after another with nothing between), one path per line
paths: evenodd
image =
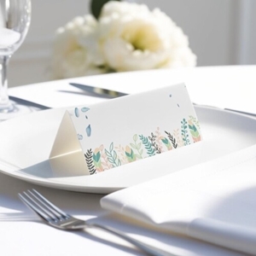
M77 17L56 32L54 79L166 67L194 67L189 40L160 9L110 1L99 20Z

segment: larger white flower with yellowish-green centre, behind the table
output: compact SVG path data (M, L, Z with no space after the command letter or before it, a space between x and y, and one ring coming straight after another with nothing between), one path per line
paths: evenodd
M160 9L111 1L103 6L99 29L102 55L115 71L195 66L188 38Z

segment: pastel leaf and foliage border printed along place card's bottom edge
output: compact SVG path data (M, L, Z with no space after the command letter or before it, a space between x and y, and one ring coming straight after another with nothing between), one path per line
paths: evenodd
M148 135L135 134L131 143L126 145L112 142L87 149L84 157L90 174L95 174L200 141L199 122L189 115L189 119L181 120L176 130L160 131L160 127L157 127Z

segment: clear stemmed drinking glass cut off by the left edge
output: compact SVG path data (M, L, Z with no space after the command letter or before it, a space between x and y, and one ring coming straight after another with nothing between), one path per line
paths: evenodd
M7 68L10 57L26 38L31 0L0 0L0 115L9 119L19 109L9 101Z

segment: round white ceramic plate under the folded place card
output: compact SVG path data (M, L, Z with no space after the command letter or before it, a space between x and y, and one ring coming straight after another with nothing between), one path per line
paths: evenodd
M48 157L64 111L49 109L1 123L1 172L51 188L108 194L256 143L256 119L196 106L202 142L96 175L61 177L51 172Z

